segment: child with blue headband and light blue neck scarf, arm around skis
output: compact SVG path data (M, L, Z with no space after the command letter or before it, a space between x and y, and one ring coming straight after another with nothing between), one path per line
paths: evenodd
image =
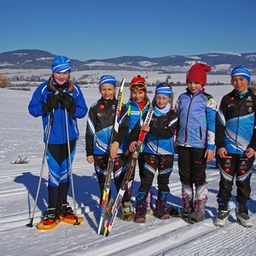
M130 151L137 148L137 137L140 130L147 131L143 148L143 172L141 173L141 185L138 189L136 207L136 223L146 222L147 196L152 186L154 173L158 170L158 199L156 201L155 214L157 218L170 218L166 211L166 200L169 189L169 177L172 172L174 151L174 133L177 129L177 114L169 103L172 97L172 88L159 84L155 89L154 115L150 125L143 125L147 113L139 119L137 125L131 131Z

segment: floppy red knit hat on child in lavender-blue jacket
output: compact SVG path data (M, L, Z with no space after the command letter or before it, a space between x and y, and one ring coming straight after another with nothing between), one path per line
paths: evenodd
M189 81L196 82L201 85L207 84L207 72L211 71L212 67L209 67L203 63L196 63L192 67L190 67L187 73L186 83L188 84Z

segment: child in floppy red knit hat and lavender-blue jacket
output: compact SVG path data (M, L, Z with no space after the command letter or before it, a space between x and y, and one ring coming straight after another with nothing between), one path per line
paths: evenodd
M182 183L182 214L190 223L205 219L208 193L206 168L207 162L214 157L217 105L204 87L207 83L207 72L211 69L203 63L190 67L186 79L187 92L180 95L176 103L179 119L177 154Z

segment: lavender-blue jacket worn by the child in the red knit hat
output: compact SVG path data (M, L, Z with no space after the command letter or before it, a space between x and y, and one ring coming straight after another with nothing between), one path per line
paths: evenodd
M187 92L177 99L177 145L191 148L215 149L217 104L202 88L192 95Z

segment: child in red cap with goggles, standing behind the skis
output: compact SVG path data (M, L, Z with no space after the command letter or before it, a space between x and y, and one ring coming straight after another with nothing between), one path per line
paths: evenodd
M138 75L131 80L131 84L129 86L129 90L131 90L131 97L129 102L125 104L125 107L128 110L128 123L129 123L129 133L133 129L133 127L137 124L137 121L142 117L143 113L148 110L150 101L147 96L147 85L146 79ZM125 155L126 159L129 162L130 159L130 151L129 151L129 136L126 139L125 147ZM142 154L138 156L138 166L139 166L139 174L143 172L143 157ZM135 176L135 168L131 174L131 180L128 183L128 197L130 197L129 201L124 201L121 210L122 210L122 218L126 221L133 221L134 215L131 212L132 207L132 183Z

